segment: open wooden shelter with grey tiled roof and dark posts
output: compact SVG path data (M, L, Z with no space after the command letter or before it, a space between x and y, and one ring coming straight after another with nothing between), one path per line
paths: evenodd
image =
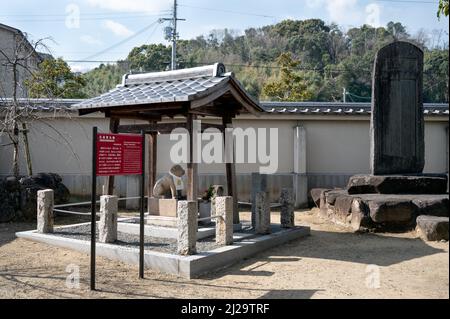
M110 118L111 133L139 133L149 138L148 191L152 195L156 182L157 136L170 134L173 129L184 127L190 135L190 161L187 164L188 200L198 199L197 164L193 161L194 120L199 117L219 118L222 124L205 124L202 130L218 128L224 133L232 127L232 119L239 114L258 116L263 109L253 100L225 66L210 66L136 75L124 75L121 85L99 97L75 105L80 115L102 112ZM185 123L170 123L163 118L182 116ZM120 125L121 119L146 121L145 125ZM225 134L224 134L225 136ZM225 141L227 143L227 141ZM234 200L234 222L239 223L236 175L234 163L226 164L227 191ZM108 179L108 193L112 194L114 177Z

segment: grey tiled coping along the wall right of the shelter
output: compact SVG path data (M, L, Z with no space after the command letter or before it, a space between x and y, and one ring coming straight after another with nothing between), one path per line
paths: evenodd
M370 115L370 103L335 102L261 102L261 107L270 114L297 115ZM425 103L425 115L449 115L448 104Z

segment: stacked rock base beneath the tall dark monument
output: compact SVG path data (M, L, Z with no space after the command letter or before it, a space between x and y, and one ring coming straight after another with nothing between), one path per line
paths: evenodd
M412 230L418 216L449 217L444 175L350 178L347 189L313 189L320 216L354 231Z

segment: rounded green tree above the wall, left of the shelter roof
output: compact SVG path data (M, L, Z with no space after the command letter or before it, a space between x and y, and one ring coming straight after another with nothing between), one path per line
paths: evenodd
M31 80L25 81L31 98L79 99L87 97L83 92L86 81L73 73L62 59L47 59L39 64Z

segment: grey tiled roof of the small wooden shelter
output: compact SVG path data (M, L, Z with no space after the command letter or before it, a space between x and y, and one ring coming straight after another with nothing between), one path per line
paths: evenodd
M116 106L189 102L225 90L227 85L239 88L241 94L258 111L262 111L225 66L215 65L136 75L125 75L121 85L98 97L83 101L78 110L104 109Z

